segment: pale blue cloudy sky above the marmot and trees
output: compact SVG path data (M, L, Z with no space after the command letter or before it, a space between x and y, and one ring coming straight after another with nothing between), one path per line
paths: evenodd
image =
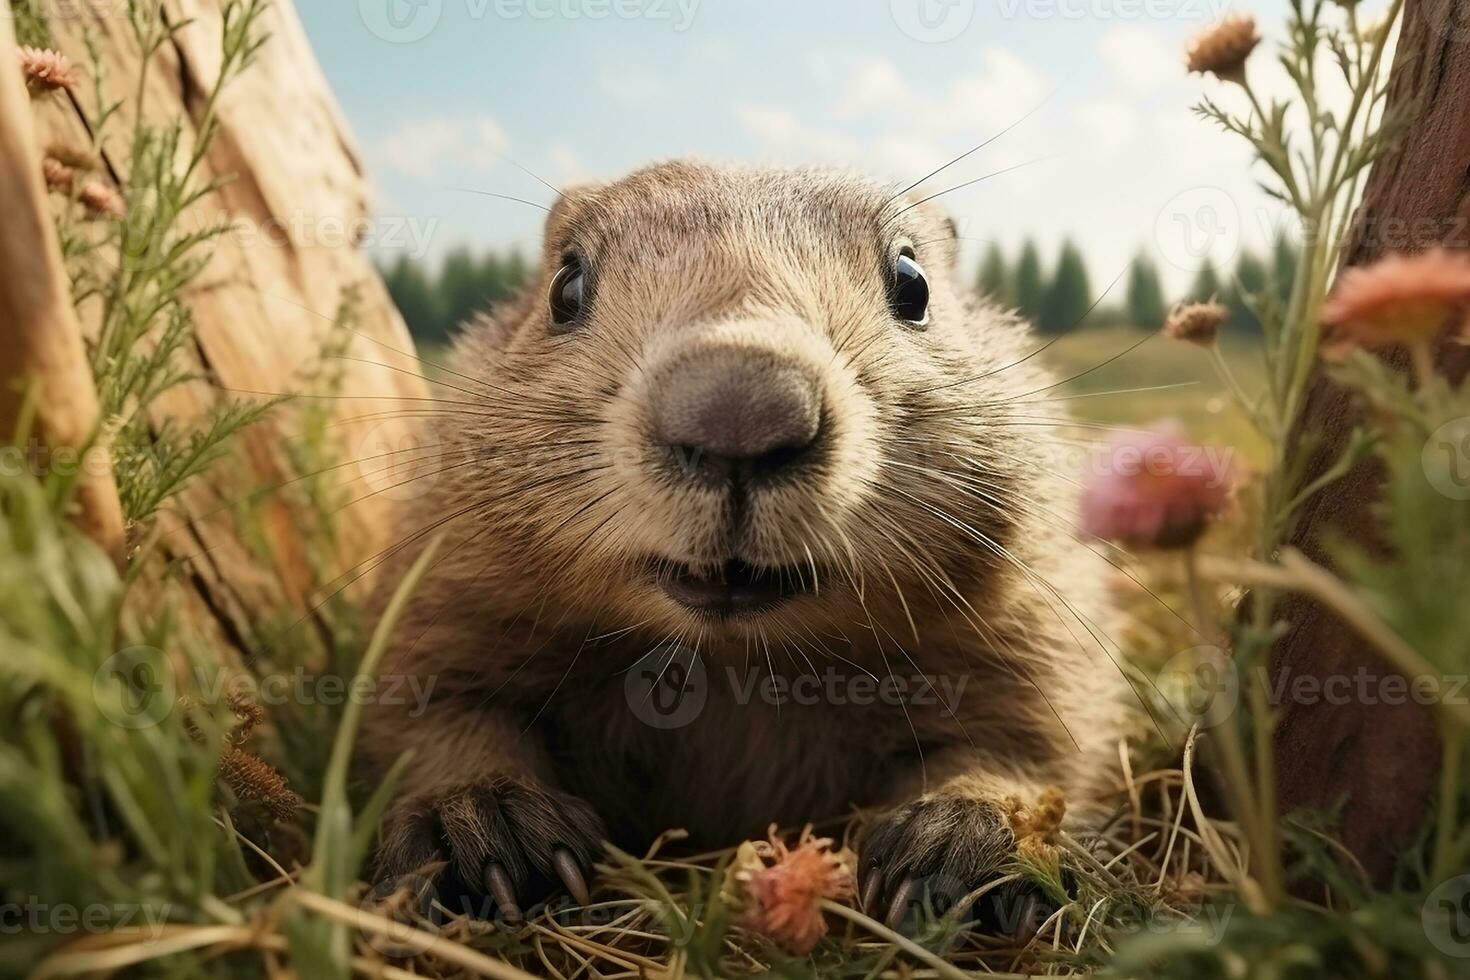
M384 247L429 262L459 244L537 248L541 210L472 191L550 204L547 185L684 156L908 184L992 137L923 185L986 178L939 198L972 262L986 242L1014 254L1026 238L1051 262L1072 238L1095 291L1139 251L1177 289L1207 257L1229 267L1289 228L1255 187L1264 173L1248 147L1191 110L1201 93L1227 103L1236 93L1183 68L1188 40L1229 12L1255 13L1270 43L1286 0L307 0L298 10L379 215L417 229ZM1270 68L1261 54L1252 63Z

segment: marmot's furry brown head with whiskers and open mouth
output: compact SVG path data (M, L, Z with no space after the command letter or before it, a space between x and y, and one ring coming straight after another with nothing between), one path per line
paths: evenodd
M1026 420L1055 413L1017 404L1032 347L916 197L684 162L564 194L441 426L482 601L739 645L967 617L1053 502Z

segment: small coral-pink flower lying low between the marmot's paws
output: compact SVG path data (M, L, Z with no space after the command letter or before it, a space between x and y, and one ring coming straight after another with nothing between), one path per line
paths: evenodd
M811 836L807 826L788 848L770 827L770 840L747 840L735 854L731 896L741 905L741 924L792 955L804 956L826 936L822 901L847 901L857 890L856 855L833 851L831 837Z

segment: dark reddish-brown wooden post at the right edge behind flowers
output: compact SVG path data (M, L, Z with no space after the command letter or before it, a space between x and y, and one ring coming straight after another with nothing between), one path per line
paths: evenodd
M1373 167L1344 248L1345 264L1432 245L1470 248L1470 9L1464 0L1408 0L1389 106L1410 112L1413 120L1399 147ZM1439 367L1463 378L1470 348L1445 345ZM1355 420L1348 392L1319 372L1298 425L1299 432L1320 438L1307 479L1341 454ZM1379 483L1377 467L1366 463L1316 494L1291 544L1326 561L1323 545L1333 538L1373 542ZM1446 582L1444 601L1464 601L1467 585ZM1320 605L1289 598L1282 613L1291 632L1273 651L1274 679L1392 673ZM1288 701L1280 705L1276 765L1283 811L1345 802L1344 842L1382 880L1424 823L1439 745L1427 711L1413 702Z

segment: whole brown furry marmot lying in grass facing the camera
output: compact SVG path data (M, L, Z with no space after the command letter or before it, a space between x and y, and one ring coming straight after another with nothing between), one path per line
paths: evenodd
M673 162L563 192L470 322L392 569L447 541L365 751L413 751L378 874L516 917L604 840L732 845L886 808L861 901L970 887L1011 796L1105 785L1122 676L1055 379L914 192ZM1079 476L1073 473L1072 476ZM416 714L416 717L413 717Z

